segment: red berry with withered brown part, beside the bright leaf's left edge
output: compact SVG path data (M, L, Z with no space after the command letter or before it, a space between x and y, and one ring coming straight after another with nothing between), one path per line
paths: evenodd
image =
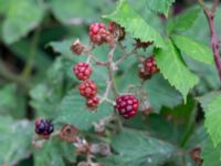
M156 61L155 61L155 58L152 55L152 56L147 58L143 62L143 64L138 69L138 75L143 80L147 80L147 79L150 79L151 75L154 75L158 71L159 71L159 69L158 69Z

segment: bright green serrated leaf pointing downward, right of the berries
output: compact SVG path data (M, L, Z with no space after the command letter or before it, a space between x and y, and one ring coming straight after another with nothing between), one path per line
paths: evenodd
M186 101L188 92L198 83L199 79L188 70L172 42L167 40L166 43L167 49L155 51L157 64L165 79L182 94Z

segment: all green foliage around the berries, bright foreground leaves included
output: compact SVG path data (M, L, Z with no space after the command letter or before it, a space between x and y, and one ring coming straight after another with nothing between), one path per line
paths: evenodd
M219 77L209 48L209 29L197 4L183 6L172 15L175 0L0 0L0 165L65 166L82 158L74 146L52 138L44 147L32 147L34 120L51 118L59 129L75 125L93 135L93 123L108 116L113 107L102 104L96 114L85 108L72 68L76 58L70 45L78 38L88 44L92 22L115 21L133 38L154 41L141 54L156 54L160 73L144 84L154 113L140 112L123 121L120 133L109 135L113 155L96 157L107 166L194 166L190 151L202 147L203 166L220 166L221 95ZM158 13L167 15L161 19ZM102 18L102 15L104 15ZM215 14L221 38L221 8ZM105 60L107 46L95 49ZM123 54L116 51L116 56ZM115 75L117 89L140 83L135 58L127 59ZM107 71L95 68L93 80L105 87ZM90 137L98 142L97 137Z

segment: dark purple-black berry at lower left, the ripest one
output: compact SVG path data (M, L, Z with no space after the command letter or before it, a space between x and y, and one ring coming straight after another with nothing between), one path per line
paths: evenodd
M35 121L35 133L42 138L49 138L51 133L54 131L54 125L49 120L36 120Z

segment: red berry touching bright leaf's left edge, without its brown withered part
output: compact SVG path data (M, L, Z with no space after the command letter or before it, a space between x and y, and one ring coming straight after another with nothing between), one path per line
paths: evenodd
M144 65L145 73L147 73L149 75L152 75L159 71L154 56L147 58L144 61L143 65Z

